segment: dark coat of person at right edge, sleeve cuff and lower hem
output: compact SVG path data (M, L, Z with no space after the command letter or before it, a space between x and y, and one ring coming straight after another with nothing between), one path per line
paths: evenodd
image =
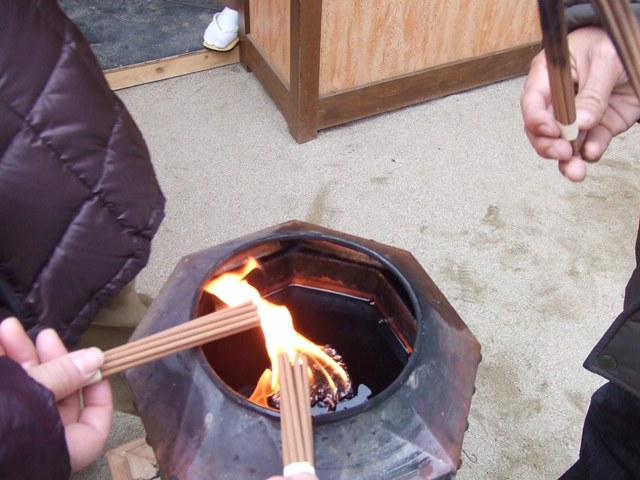
M640 0L632 1L640 18ZM600 24L590 2L565 0L569 31ZM640 396L640 229L636 240L636 268L627 284L624 309L585 360L588 370Z

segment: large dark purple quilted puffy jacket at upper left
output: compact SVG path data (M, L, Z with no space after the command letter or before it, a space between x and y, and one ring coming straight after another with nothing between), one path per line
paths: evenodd
M145 141L79 30L55 0L3 0L0 304L32 338L53 327L74 345L163 215Z

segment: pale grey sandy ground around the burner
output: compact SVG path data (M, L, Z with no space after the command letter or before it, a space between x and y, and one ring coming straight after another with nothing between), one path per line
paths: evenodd
M604 382L582 362L619 312L634 266L640 131L571 184L527 143L522 82L303 145L238 65L121 91L167 197L138 290L156 295L185 254L290 219L409 250L482 345L456 478L556 479L576 458L589 397ZM141 436L136 417L115 425L110 445ZM109 478L105 465L76 478Z

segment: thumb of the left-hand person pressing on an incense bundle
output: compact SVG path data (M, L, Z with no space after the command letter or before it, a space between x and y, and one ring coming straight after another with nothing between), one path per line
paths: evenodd
M104 354L85 348L54 358L28 370L29 375L53 392L56 401L68 397L100 375Z

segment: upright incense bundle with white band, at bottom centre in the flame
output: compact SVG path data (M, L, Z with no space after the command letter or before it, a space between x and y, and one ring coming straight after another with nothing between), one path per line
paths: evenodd
M286 353L279 353L278 368L284 475L315 475L307 357L296 355L292 364Z

